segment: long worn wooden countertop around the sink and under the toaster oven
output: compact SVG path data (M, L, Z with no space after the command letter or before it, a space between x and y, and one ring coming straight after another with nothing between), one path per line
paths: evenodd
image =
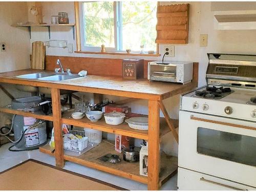
M197 86L195 81L183 85L180 83L148 81L147 79L126 80L120 76L98 75L88 75L62 81L16 78L17 75L45 72L52 71L26 69L0 73L0 82L151 100L162 100L192 90Z

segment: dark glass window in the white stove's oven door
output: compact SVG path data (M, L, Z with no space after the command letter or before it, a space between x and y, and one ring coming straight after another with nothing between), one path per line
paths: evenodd
M197 152L256 166L256 138L198 127Z

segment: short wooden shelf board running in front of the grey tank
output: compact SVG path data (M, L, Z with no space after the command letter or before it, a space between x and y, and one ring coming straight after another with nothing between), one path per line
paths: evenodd
M43 120L47 120L47 121L53 121L52 115L41 115L41 114L32 113L32 112L13 110L13 109L8 108L8 107L0 108L0 112L22 115L22 116L25 116L25 117L34 117L34 118L37 118L37 119L43 119Z

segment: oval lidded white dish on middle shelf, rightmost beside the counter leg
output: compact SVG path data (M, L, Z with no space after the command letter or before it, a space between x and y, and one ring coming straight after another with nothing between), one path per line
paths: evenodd
M128 125L135 130L148 130L147 117L132 117L125 120Z

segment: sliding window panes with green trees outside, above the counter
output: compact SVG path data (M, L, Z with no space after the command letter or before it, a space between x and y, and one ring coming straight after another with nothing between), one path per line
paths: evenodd
M81 50L156 52L157 2L80 3Z

